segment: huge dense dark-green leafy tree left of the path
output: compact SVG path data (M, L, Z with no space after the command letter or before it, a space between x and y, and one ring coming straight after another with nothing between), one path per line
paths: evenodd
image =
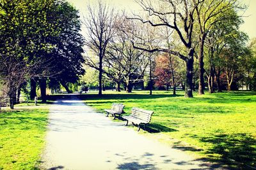
M10 87L7 93L12 108L13 97L29 78L33 80L32 98L35 80L40 78L45 101L47 77L64 84L76 81L83 73L79 16L70 4L54 0L1 0L0 11L0 74Z

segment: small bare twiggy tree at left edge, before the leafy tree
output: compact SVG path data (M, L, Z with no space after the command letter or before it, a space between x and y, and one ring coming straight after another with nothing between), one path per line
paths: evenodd
M17 55L19 46L17 44L12 46L12 50L8 54L0 54L0 82L2 86L8 87L4 93L8 94L10 98L10 108L14 108L16 101L16 94L20 90L21 85L29 78L40 77L47 74L49 67L47 62L43 60L34 60L29 62L25 59L20 59ZM38 69L44 70L38 74Z

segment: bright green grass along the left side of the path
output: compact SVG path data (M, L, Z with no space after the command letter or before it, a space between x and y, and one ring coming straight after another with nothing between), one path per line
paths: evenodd
M0 169L36 169L44 148L48 112L47 105L0 111Z

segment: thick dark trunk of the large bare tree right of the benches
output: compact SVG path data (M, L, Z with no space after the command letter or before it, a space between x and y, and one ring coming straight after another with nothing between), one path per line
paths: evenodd
M185 81L185 97L193 97L193 63L194 49L189 49L188 59L186 60L186 81Z

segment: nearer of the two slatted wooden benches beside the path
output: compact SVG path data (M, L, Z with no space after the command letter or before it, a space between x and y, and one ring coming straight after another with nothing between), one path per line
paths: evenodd
M150 122L153 113L154 111L132 108L131 115L123 116L123 118L127 120L125 125L128 125L128 122L130 121L133 125L138 125L138 131L140 131L141 124L144 124L146 129L146 125Z

